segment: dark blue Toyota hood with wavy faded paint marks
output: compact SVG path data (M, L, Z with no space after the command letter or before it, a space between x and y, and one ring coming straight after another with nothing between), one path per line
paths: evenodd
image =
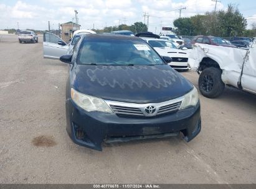
M130 103L159 103L188 93L192 85L169 65L77 65L71 86L80 93Z

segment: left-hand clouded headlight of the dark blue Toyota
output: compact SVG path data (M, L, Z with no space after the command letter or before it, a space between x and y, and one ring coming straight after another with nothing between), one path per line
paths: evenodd
M71 99L77 106L86 111L101 111L103 113L113 113L107 103L101 98L79 93L71 88Z

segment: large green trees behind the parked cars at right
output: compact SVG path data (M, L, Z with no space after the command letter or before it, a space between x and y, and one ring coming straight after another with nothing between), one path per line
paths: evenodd
M227 10L206 12L188 18L179 18L173 22L178 27L179 35L216 35L230 37L230 35L244 35L247 21L233 4ZM256 25L255 25L256 26Z

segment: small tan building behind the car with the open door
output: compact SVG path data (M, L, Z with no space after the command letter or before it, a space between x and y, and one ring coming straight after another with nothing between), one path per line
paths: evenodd
M74 22L67 22L60 24L60 26L62 29L62 40L69 42L69 40L72 38L73 32L75 30L79 30L81 25L75 24Z

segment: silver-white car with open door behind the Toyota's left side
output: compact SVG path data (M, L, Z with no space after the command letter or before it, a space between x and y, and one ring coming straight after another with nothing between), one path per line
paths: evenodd
M44 33L44 58L59 59L62 55L72 54L73 46L80 39L81 34L96 34L92 30L77 30L69 45L60 39L59 36L48 32Z

